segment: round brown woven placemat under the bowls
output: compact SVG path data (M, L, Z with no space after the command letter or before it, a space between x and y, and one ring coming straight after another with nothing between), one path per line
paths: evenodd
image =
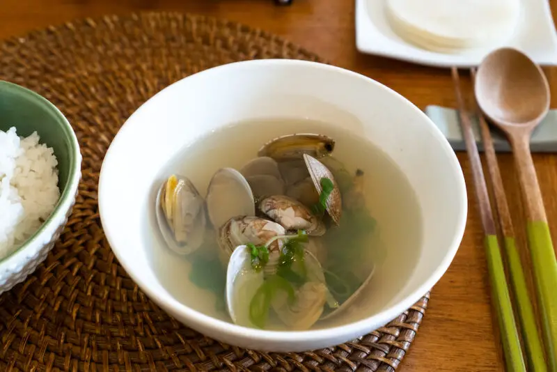
M0 42L0 79L56 104L84 157L77 203L60 240L34 274L0 296L1 371L397 368L429 294L386 327L334 348L244 350L208 339L159 309L127 276L104 237L97 182L104 153L125 119L178 79L262 58L322 61L269 33L175 13L82 20Z

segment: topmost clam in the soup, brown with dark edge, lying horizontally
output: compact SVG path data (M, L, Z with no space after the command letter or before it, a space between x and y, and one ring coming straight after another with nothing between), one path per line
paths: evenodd
M258 156L272 157L276 161L300 159L301 155L313 157L330 155L335 148L335 141L322 134L288 134L272 139L258 151Z

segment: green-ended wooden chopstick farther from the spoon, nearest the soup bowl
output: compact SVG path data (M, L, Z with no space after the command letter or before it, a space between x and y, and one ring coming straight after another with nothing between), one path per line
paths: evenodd
M451 69L453 83L455 85L455 97L457 100L458 112L460 115L460 125L464 143L466 144L466 153L468 153L469 161L472 168L473 186L476 190L476 199L480 209L480 218L485 233L485 254L487 259L487 269L492 286L492 301L496 309L497 318L499 320L499 332L501 332L501 341L503 343L503 353L505 355L505 364L507 371L526 371L524 357L520 346L519 334L515 323L515 315L512 313L512 304L505 278L503 268L503 258L499 249L499 241L493 219L493 212L489 204L489 195L487 194L487 185L480 161L480 153L476 146L476 140L473 136L472 125L469 116L464 110L464 100L460 92L460 78L457 68Z

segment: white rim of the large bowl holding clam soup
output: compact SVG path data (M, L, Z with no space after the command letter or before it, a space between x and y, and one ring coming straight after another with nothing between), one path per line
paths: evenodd
M414 290L411 295L405 297L399 302L396 302L395 304L392 304L379 313L375 313L372 316L367 316L366 318L363 318L361 320L356 320L355 322L339 325L336 327L304 331L260 330L251 327L244 327L242 325L236 325L234 323L229 323L224 320L213 318L212 316L208 316L201 311L197 311L195 309L192 309L191 307L188 307L186 304L182 304L171 296L169 296L168 299L165 298L163 300L157 295L155 290L150 288L149 283L142 279L141 275L134 272L133 265L130 265L125 257L120 254L117 245L115 244L115 235L117 235L118 233L117 231L114 231L109 224L105 224L105 222L108 221L105 217L106 215L103 213L103 210L109 210L109 205L104 202L104 194L105 192L108 192L108 187L104 186L106 183L108 183L107 179L104 176L104 171L107 169L107 164L109 164L109 162L111 161L113 153L116 151L115 149L119 148L120 141L123 141L126 132L130 130L130 126L132 125L131 122L136 116L141 114L141 111L143 111L143 109L145 109L149 104L152 104L157 96L165 94L167 91L171 91L178 85L185 84L184 82L187 81L187 79L201 77L204 75L211 75L220 70L233 70L244 65L253 65L259 67L262 66L263 68L272 65L301 66L306 68L317 68L336 74L343 74L347 77L355 77L357 79L363 80L364 82L367 82L368 84L377 86L382 91L385 91L387 94L394 95L396 98L398 98L400 104L408 105L416 113L416 116L421 117L423 121L427 123L429 130L432 132L432 135L438 140L439 146L441 146L441 150L444 150L444 153L448 158L448 162L450 162L451 164L451 176L455 178L458 184L456 192L459 198L460 214L457 217L455 235L453 236L453 240L450 243L450 247L448 247L447 249L446 256L441 261L439 267L434 272L432 272L432 274L430 274L430 277L425 280L423 284L421 284L421 286ZM136 109L136 111L134 111L134 113L132 113L129 118L127 118L127 120L122 125L122 127L120 127L120 130L118 130L118 133L111 142L101 166L98 202L100 219L103 225L104 234L107 237L107 241L112 248L113 254L116 256L116 258L118 258L118 261L123 266L127 274L130 275L130 278L132 278L134 283L137 284L139 288L141 288L141 290L146 293L146 295L148 295L150 300L152 300L156 304L159 304L159 306L162 307L164 311L167 311L168 313L180 314L180 316L185 319L184 323L189 327L194 327L198 331L200 330L200 328L198 327L201 327L201 330L205 330L205 332L207 333L211 332L212 334L221 334L223 336L222 338L237 340L249 339L251 341L262 342L272 341L279 343L292 343L292 341L295 341L295 343L297 344L322 343L325 339L330 339L331 337L338 339L340 337L346 337L353 334L360 334L361 332L368 332L370 323L381 323L384 325L386 323L389 323L389 321L393 320L393 318L398 316L400 313L403 313L404 311L409 309L409 307L414 305L421 297L423 297L423 295L425 295L427 291L429 291L434 286L434 284L436 284L437 281L441 279L446 270L448 270L448 267L450 266L450 263L452 263L453 258L455 257L457 250L460 247L460 243L462 242L464 229L466 227L466 218L468 214L468 196L466 192L466 183L464 182L464 174L462 172L460 162L458 161L453 148L450 147L450 144L444 137L441 130L439 130L436 125L434 125L431 119L423 111L421 111L421 109L418 109L416 105L411 103L404 96L400 95L400 93L397 93L388 86L385 86L384 84L381 84L374 79L371 79L370 77L361 75L358 72L325 63L296 59L256 59L226 63L184 77L177 82L174 82L173 84L162 88L162 90L155 93L155 95L152 95L152 97L143 102L143 104L141 104L141 106L138 107L138 109Z

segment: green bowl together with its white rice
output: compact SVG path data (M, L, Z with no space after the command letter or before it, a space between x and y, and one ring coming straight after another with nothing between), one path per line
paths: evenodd
M0 81L0 293L45 260L68 222L80 178L79 144L61 111Z

